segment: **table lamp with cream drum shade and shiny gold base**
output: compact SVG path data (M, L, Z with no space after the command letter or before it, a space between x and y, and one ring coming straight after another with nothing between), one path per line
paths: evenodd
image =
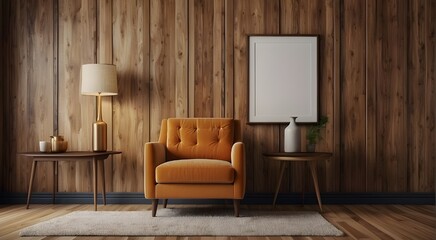
M82 65L82 95L97 96L97 120L92 125L92 151L107 150L107 124L103 121L101 97L118 94L117 70L112 64Z

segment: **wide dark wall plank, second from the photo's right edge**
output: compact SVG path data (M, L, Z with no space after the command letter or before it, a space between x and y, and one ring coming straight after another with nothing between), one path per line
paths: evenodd
M399 16L407 16L407 5L404 1L374 2L367 10L367 185L376 191L400 191L407 185L408 114L407 18ZM389 183L382 186L383 181Z

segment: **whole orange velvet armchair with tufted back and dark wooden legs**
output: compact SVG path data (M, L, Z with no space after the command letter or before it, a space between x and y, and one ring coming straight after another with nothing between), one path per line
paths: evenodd
M159 199L233 199L245 195L245 149L239 121L229 118L162 120L158 142L144 146L144 195L156 216Z

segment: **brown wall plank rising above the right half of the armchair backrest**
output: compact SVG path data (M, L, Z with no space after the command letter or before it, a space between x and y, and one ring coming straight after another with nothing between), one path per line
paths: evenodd
M222 117L225 111L224 0L196 0L190 8L194 115ZM191 74L191 73L190 73Z

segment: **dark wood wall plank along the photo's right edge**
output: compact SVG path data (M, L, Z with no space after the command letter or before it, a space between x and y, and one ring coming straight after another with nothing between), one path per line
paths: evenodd
M434 191L435 4L410 1L408 6L408 191ZM433 128L432 128L433 126Z

